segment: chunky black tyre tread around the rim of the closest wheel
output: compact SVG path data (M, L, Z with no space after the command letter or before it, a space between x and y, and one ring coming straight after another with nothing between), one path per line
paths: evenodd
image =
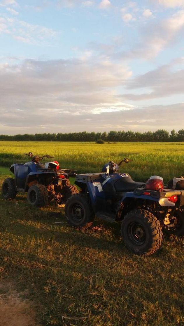
M123 229L124 229L124 224L129 219L130 217L135 217L136 215L142 216L142 219L146 220L146 222L149 224L150 228L152 229L152 243L150 244L150 247L142 254L148 256L152 255L155 251L157 251L162 243L163 239L163 233L162 233L162 228L160 226L160 223L158 219L150 212L145 211L143 209L135 209L133 211L130 211L129 213L126 214L122 221L121 225L121 233L123 235ZM126 243L126 247L128 247L129 250L132 251L131 246L129 246Z

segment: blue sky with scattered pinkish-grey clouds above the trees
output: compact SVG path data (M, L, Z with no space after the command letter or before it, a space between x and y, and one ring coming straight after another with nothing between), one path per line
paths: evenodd
M184 0L0 0L0 134L184 128Z

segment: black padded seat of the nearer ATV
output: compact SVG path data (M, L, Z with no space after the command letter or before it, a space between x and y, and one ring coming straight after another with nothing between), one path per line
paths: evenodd
M136 188L140 188L144 186L144 182L135 182L132 180L131 177L123 177L122 179L118 180L114 187L117 192L124 192L124 191L133 191Z

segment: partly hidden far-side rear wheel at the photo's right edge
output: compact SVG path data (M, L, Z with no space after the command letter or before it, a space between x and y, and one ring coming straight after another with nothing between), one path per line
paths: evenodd
M171 223L164 226L163 232L168 235L184 235L184 211L177 213L171 220Z

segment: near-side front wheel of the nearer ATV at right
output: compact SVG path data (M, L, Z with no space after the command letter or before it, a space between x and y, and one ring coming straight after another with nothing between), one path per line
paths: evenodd
M71 226L82 227L92 222L94 213L90 200L84 194L70 197L65 204L65 216Z

